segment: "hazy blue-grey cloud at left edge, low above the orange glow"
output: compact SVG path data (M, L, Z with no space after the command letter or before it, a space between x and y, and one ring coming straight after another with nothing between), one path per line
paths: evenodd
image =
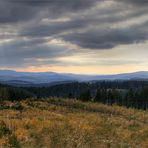
M51 64L52 61L57 61L56 58L72 54L72 49L49 45L46 39L16 39L0 45L0 65L21 67L26 64L33 66L43 63Z

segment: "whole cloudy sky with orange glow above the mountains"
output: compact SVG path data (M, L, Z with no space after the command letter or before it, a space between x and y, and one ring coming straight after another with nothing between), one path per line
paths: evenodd
M0 0L0 69L148 71L148 0Z

